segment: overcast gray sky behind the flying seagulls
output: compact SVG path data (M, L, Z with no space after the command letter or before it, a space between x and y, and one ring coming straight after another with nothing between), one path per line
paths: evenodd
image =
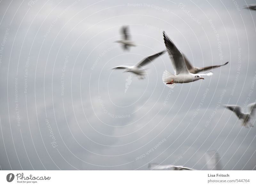
M256 100L255 1L134 3L1 1L1 169L206 170L210 150L224 170L256 169L255 128L222 107ZM130 52L113 43L122 25ZM167 54L144 80L108 70L164 50L163 30L195 66L229 64L173 91Z

